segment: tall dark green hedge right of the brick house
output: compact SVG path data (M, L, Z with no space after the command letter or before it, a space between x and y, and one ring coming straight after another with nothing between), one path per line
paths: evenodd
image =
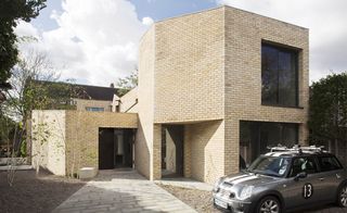
M309 106L310 143L346 146L347 72L332 74L313 83Z

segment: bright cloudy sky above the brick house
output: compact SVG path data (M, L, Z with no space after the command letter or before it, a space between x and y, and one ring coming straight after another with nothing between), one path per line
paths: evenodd
M47 54L62 80L108 86L137 68L153 22L222 4L309 28L310 82L347 71L346 0L48 0L15 32L36 38L20 43L22 54Z

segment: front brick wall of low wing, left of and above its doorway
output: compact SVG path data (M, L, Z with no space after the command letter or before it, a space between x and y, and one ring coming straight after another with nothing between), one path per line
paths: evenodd
M136 113L66 111L66 173L99 167L99 128L138 128Z

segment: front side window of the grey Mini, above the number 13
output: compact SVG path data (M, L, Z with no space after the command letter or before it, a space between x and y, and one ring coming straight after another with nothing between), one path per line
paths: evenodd
M306 172L307 174L314 174L318 172L317 164L313 158L299 156L293 160L290 177L295 177L301 172Z

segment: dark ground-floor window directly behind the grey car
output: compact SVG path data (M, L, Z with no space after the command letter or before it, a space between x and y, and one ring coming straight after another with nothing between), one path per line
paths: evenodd
M240 122L241 161L249 165L268 147L278 145L292 147L298 143L298 124L275 122Z

